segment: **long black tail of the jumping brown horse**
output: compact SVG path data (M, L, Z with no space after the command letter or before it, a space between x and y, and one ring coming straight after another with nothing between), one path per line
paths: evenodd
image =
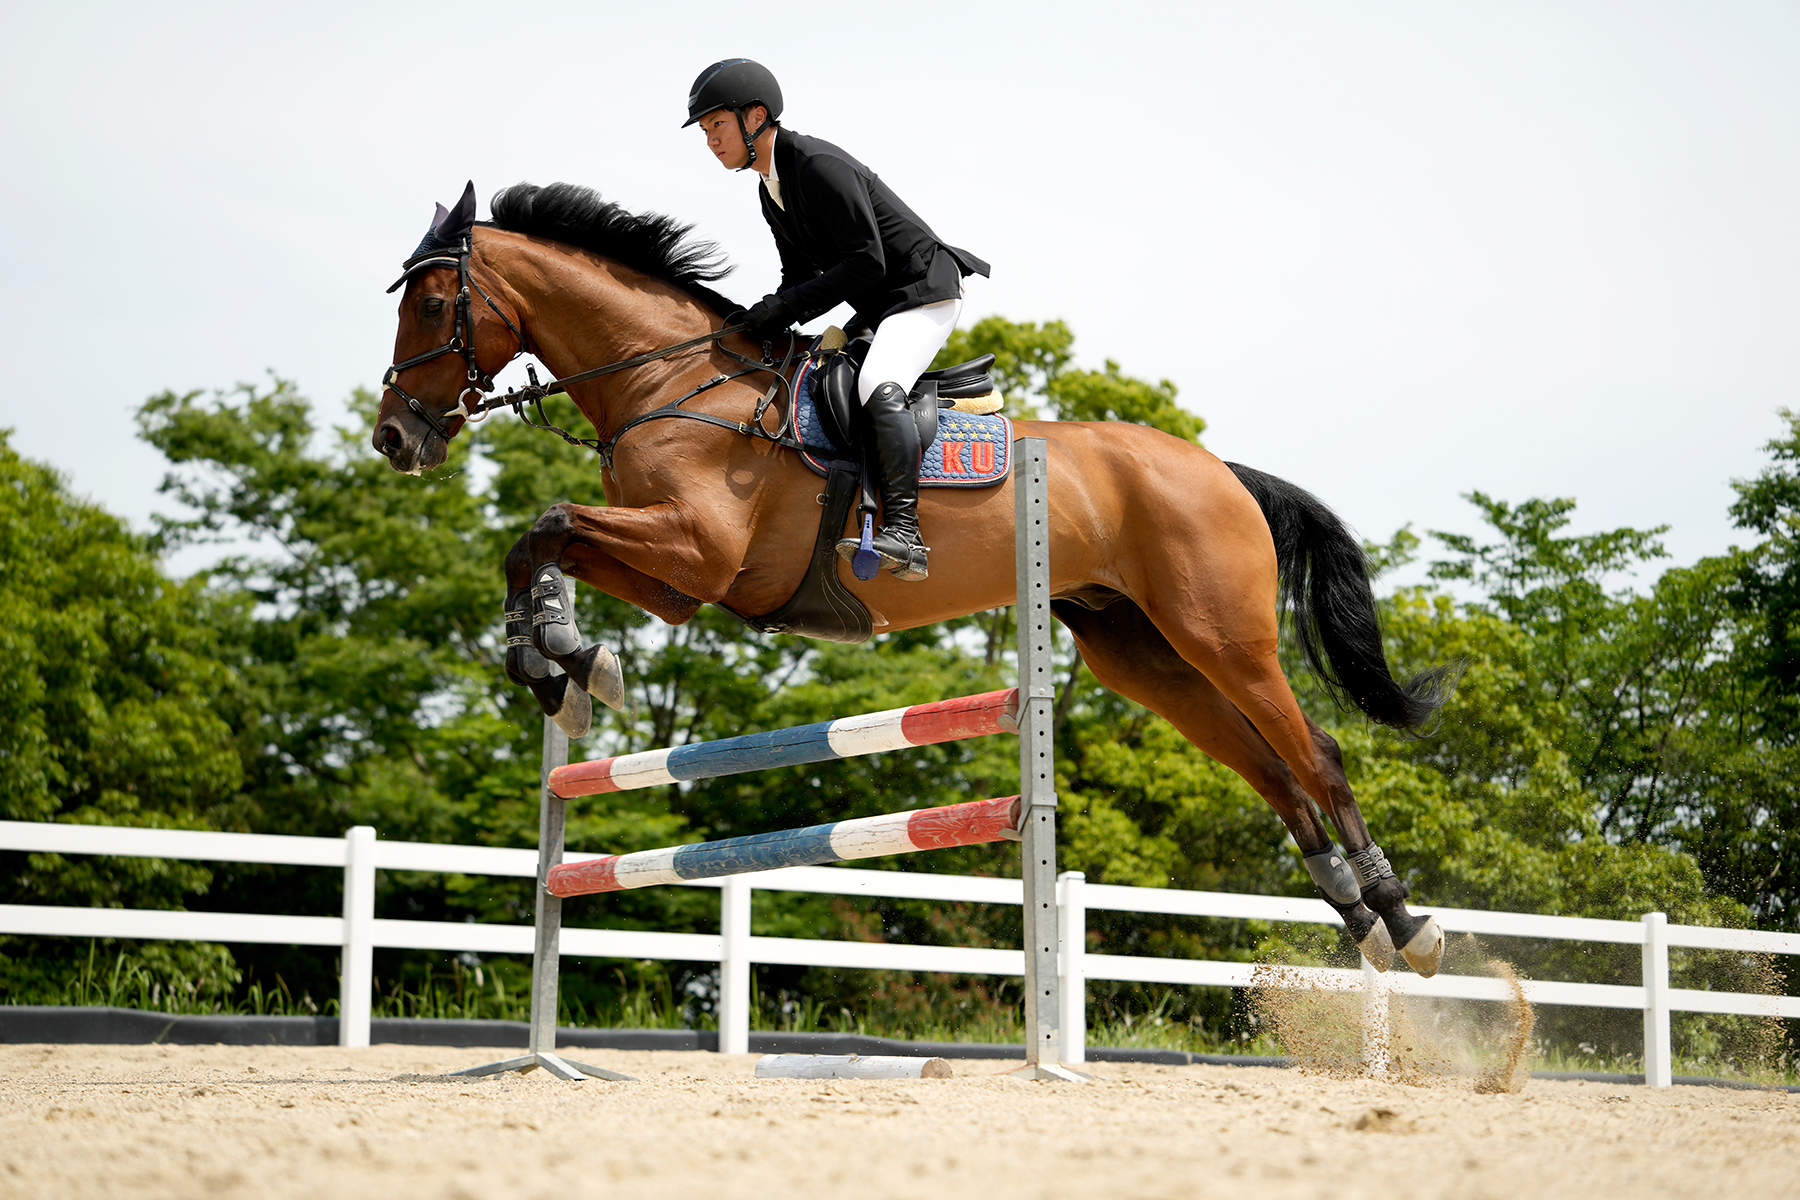
M1420 671L1404 684L1388 669L1368 585L1368 558L1323 500L1285 479L1226 462L1256 498L1280 574L1278 610L1292 613L1307 662L1341 707L1418 732L1456 687L1456 667Z

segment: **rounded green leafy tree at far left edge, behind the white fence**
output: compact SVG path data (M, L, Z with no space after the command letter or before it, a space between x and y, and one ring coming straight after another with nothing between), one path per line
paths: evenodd
M124 522L22 459L0 430L0 817L211 829L243 772L218 700L239 680L218 658L198 585L164 576ZM178 909L212 874L160 858L0 855L0 900ZM61 991L83 952L0 939L0 993ZM171 988L236 984L221 946L126 946Z

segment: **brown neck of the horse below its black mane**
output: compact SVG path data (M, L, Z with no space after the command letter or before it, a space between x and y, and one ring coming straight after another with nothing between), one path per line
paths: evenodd
M533 354L558 378L702 336L716 326L704 306L661 281L598 255L524 237L497 246ZM576 383L569 396L601 437L664 403L688 376L709 378L702 349L668 362ZM682 389L686 390L686 389Z

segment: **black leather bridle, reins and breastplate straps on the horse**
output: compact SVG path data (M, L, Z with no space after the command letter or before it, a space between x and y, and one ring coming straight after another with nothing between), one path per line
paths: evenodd
M414 275L419 275L427 270L454 266L457 272L455 326L450 333L450 340L436 349L414 354L405 362L391 363L387 367L387 372L382 376L382 387L385 387L387 390L394 392L394 396L400 396L403 401L407 401L407 408L410 408L414 416L425 421L425 425L428 425L430 430L439 437L443 437L446 443L450 441L450 432L445 428L448 421L463 417L464 423L475 425L481 419L486 419L486 416L495 408L511 408L518 416L518 419L529 425L531 428L549 430L551 434L556 434L571 446L587 446L596 455L599 455L599 464L603 470L612 470L612 457L614 452L617 450L621 437L625 437L630 430L637 428L639 425L644 425L646 421L657 421L662 417L688 417L689 421L706 421L707 425L716 425L720 428L734 430L738 434L743 434L745 437L760 437L763 441L776 443L778 446L787 446L788 450L824 453L833 459L839 455L839 452L832 450L830 446L812 446L808 443L803 443L790 432L794 426L794 396L792 396L792 380L788 378L788 367L794 363L801 342L799 335L796 333L785 335L788 345L787 353L781 356L779 365L774 360L774 342L763 342L761 362L756 362L754 358L745 358L743 354L725 345L720 345L718 347L720 351L724 351L736 362L743 363L743 367L738 371L731 371L727 374L716 374L706 383L686 392L684 396L679 396L670 403L661 405L659 408L652 408L650 412L643 412L632 417L617 430L614 430L612 437L605 439L576 437L569 430L558 428L556 425L551 423L549 416L544 412L544 399L549 396L556 396L560 392L565 394L569 390L569 385L572 383L585 383L587 380L598 380L601 376L614 374L619 371L630 371L632 367L643 367L653 362L661 362L682 351L689 351L697 345L718 342L720 338L729 336L733 333L742 333L743 326L742 324L725 326L713 333L704 333L697 338L688 338L686 342L664 345L662 349L648 351L644 354L634 354L632 358L621 358L619 362L612 362L603 367L592 367L589 371L580 371L576 374L563 376L560 380L551 380L549 383L538 383L536 367L527 365L526 374L529 378L529 383L526 383L526 387L506 389L506 392L500 396L490 396L490 392L493 392L495 387L493 376L482 371L475 363L475 322L470 313L472 308L470 290L473 288L473 291L481 293L481 299L488 302L488 308L491 308L493 313L502 322L506 322L506 327L511 329L513 338L518 342L518 349L515 349L506 358L508 363L518 358L522 353L526 353L526 335L520 333L518 326L513 324L513 320L504 311L500 311L500 306L493 302L493 297L488 295L488 291L470 273L470 263L468 263L472 252L470 241L472 241L470 237L463 237L454 255L441 252L427 252L425 255L407 261L405 273L394 281L392 288L389 288L389 291L392 291L394 288L400 288L401 284L410 281ZM455 407L434 414L430 408L425 407L425 403L418 396L412 396L400 387L400 372L434 362L437 358L443 358L445 354L461 354L463 363L468 367L468 376L463 390L457 394ZM709 412L688 412L686 408L680 407L686 401L698 396L700 392L707 392L718 387L720 383L729 383L731 380L740 380L747 374L758 374L758 372L767 372L774 376L774 381L769 385L769 390L763 392L763 398L756 401L756 412L751 416L749 421L731 421L727 417L715 417ZM767 428L763 428L763 414L769 412L769 407L783 392L787 392L788 396L787 412L783 414L779 426L770 434ZM475 398L473 403L470 403L470 396ZM531 414L526 412L526 405L533 405L536 408L538 417L535 421L531 419Z

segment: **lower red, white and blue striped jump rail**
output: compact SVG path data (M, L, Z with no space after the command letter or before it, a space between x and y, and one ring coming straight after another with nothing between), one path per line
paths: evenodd
M805 829L752 833L722 842L607 855L551 867L544 885L551 896L589 896L628 887L718 880L727 874L774 871L776 867L817 867L846 858L878 858L882 855L911 855L920 849L1015 840L1019 837L1017 804L1017 795L1006 795L995 801L968 801L943 808L914 808L909 813L833 820Z

